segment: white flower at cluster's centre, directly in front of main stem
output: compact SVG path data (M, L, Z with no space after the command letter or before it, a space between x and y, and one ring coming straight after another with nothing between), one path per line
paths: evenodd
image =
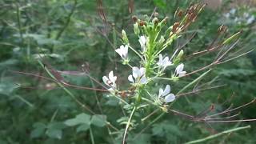
M138 69L138 67L133 67L133 74L130 74L128 77L128 80L133 83L140 83L140 84L146 84L147 79L145 76L146 69L144 67L141 67Z

